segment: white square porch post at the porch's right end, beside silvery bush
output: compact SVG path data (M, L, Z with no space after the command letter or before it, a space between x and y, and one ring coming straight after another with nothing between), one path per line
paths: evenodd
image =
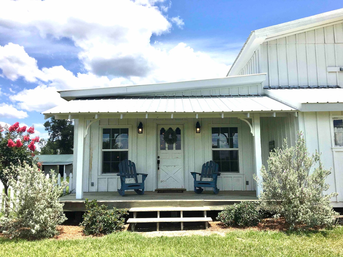
M256 176L261 180L260 169L262 167L262 151L261 151L261 129L260 129L260 114L254 114L254 150L255 150L255 167ZM262 190L261 185L257 185L256 196L259 196Z

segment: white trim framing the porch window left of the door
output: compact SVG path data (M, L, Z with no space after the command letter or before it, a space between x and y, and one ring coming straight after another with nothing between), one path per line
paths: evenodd
M98 154L98 177L112 177L116 178L117 173L102 173L103 170L103 129L129 129L129 153L128 158L131 160L132 153L132 125L100 125L99 126L99 154ZM119 177L118 177L119 178Z

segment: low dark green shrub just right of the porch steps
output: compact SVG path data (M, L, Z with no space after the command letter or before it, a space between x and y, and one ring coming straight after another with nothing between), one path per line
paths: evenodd
M228 205L218 213L217 220L227 226L249 227L256 226L261 216L256 202L243 201L239 204Z

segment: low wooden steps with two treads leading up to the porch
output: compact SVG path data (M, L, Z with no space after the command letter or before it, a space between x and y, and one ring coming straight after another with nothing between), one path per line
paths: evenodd
M137 208L130 208L129 212L133 212L133 218L128 219L128 223L131 223L131 231L134 231L136 223L145 223L145 222L156 222L157 223L157 231L159 231L159 222L181 222L181 230L184 229L184 222L197 222L202 221L205 222L205 228L208 228L209 221L212 221L212 218L207 217L207 211L209 211L209 207L137 207ZM156 218L137 218L138 212L151 212L157 211ZM179 211L180 217L179 218L161 218L160 213L161 211ZM184 211L203 211L203 217L183 217Z

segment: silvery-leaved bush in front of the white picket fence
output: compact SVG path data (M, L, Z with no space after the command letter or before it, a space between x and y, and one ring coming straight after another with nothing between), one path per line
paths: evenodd
M58 202L58 197L62 195L67 182L63 181L58 186L52 170L52 178L46 178L44 172L35 165L30 167L24 164L23 167L11 166L8 169L16 169L18 178L9 178L9 185L14 190L12 202L8 196L2 195L7 206L0 217L3 234L10 238L44 238L58 234L56 226L66 220L63 204Z

